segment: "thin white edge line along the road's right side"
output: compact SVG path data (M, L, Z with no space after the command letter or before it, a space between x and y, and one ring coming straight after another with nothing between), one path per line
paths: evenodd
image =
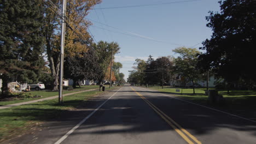
M159 92L159 91L152 91L151 89L148 89L148 88L144 88L144 89L147 89L148 91L151 91L151 92ZM162 93L160 93L160 94L162 94ZM183 100L183 99L179 99L179 98L174 98L174 97L172 97L171 95L166 95L166 94L162 94L162 95L165 95L165 96L171 97L171 98L173 98L173 99L178 99L178 100L181 100L181 101L185 101L185 102L190 103L190 104L194 104L194 105L197 105L197 106L205 107L205 108L207 108L207 109L211 109L211 110L214 110L214 111L222 112L222 113L225 113L225 114L230 115L230 116L242 118L242 119L245 119L245 120L247 120L247 121L256 123L256 121L253 121L252 119L248 119L248 118L245 118L245 117L240 117L240 116L237 116L237 115L233 115L233 114L231 114L231 113L224 112L224 111L217 110L217 109L213 109L213 108L208 107L208 106L204 106L204 105L200 105L200 104L195 104L195 103L192 103L192 102L187 101L187 100Z

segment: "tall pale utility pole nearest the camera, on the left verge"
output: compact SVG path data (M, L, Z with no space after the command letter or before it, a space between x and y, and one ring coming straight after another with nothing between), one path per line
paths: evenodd
M65 46L65 13L66 0L62 1L62 19L61 19L61 50L60 50L60 75L59 75L59 104L63 103L62 88L63 88L63 60L64 60L64 46Z

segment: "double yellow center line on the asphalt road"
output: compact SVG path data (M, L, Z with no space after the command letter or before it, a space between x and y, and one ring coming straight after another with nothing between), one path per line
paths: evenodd
M158 113L158 115L165 120L165 122L167 122L179 135L181 135L181 137L187 141L189 144L194 144L194 142L196 142L197 144L201 144L201 142L199 140L196 139L195 136L191 135L187 130L183 129L181 127L181 125L177 124L175 121L173 121L172 118L170 118L169 116L167 116L164 112L162 112L161 110L158 109L158 107L156 107L155 105L153 105L152 103L150 103L150 101L148 101L145 97L143 97L143 95L141 95L140 93L136 92L135 89L133 89L131 87L131 89L137 94L139 95L139 97L141 97L144 101L146 101L146 103L152 107L152 109ZM190 139L189 139L190 137ZM193 142L193 141L194 142Z

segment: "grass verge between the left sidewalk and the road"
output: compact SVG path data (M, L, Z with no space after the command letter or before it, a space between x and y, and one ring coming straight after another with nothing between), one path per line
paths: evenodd
M108 89L106 87L106 90ZM68 95L64 97L64 105L58 105L58 99L53 99L0 110L0 143L1 140L17 136L40 122L60 117L63 112L75 109L79 104L100 93L103 92L91 91Z

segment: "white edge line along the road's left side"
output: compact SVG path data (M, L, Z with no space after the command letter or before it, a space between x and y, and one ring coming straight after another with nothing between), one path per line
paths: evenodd
M123 87L121 87L123 88ZM120 89L121 89L120 88ZM120 89L118 89L117 92L120 91ZM58 141L56 141L54 144L60 144L63 140L65 140L70 134L72 134L75 129L77 129L78 127L80 127L81 124L83 124L88 118L90 118L98 109L101 108L101 106L103 106L105 103L107 103L107 101L112 98L117 92L115 92L113 95L111 95L111 97L109 97L106 101L104 101L104 103L102 103L100 106L97 107L97 109L95 109L94 111L92 111L90 113L90 115L88 115L87 117L85 117L82 121L80 121L77 125L75 125L75 127L73 127L71 130L69 130L65 135L63 135Z

